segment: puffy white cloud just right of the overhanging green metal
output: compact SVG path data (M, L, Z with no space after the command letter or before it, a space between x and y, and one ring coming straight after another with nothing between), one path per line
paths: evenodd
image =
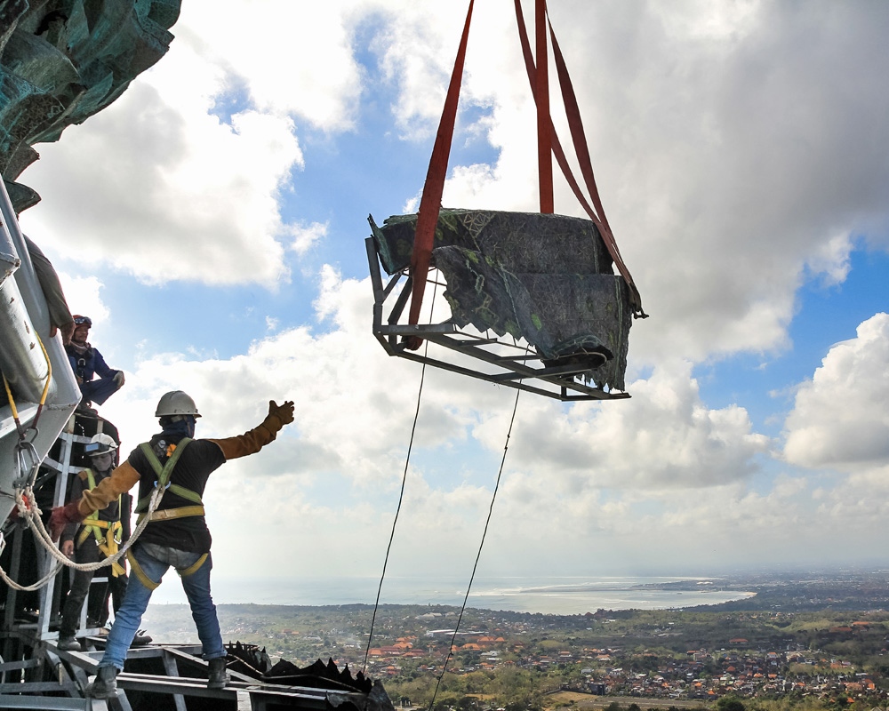
M287 276L276 194L302 161L292 123L244 111L223 124L207 114L209 92L177 103L177 92L165 94L174 76L210 81L213 72L184 45L168 59L42 148L23 180L44 203L21 221L54 252L147 283L274 284Z

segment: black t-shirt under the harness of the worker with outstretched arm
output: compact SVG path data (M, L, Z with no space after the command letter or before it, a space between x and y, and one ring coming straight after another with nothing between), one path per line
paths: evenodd
M171 444L178 444L182 435L155 435L150 446L159 456L157 459L163 467L168 459L167 452ZM139 447L130 453L130 465L140 474L139 500L150 496L154 491L157 475L148 462L148 458ZM188 443L173 467L170 483L184 487L203 498L204 487L212 472L225 464L219 444L209 439L196 439ZM196 506L196 502L185 499L169 489L164 493L157 510L164 508L181 508ZM212 544L212 537L207 528L204 516L183 516L162 521L152 521L142 531L140 540L145 543L156 543L185 550L191 553L207 553Z

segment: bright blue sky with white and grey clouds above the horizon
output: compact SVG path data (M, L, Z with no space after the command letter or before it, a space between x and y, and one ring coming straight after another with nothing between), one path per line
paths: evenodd
M124 452L167 390L210 437L296 403L207 486L223 585L381 571L420 365L372 337L366 219L419 204L466 6L185 0L164 59L20 177L22 228L125 371L100 408ZM521 395L479 574L885 567L889 4L549 14L651 317L631 399ZM443 204L538 210L535 135L512 3L479 0ZM389 576L469 579L514 399L428 369Z

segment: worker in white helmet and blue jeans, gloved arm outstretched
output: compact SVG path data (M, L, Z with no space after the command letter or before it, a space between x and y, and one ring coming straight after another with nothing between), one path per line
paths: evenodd
M145 515L156 486L164 488L150 523L127 554L130 583L108 635L98 675L87 690L94 699L116 695L116 676L124 668L127 648L139 628L152 591L171 566L182 579L197 636L204 648L204 659L209 662L207 685L211 689L226 686L226 651L210 595L212 539L201 499L208 477L228 459L253 454L275 440L281 428L293 421L293 403L278 405L274 400L269 401L268 415L258 427L226 439L193 439L200 414L195 401L181 390L161 397L155 417L160 419L160 433L134 449L108 479L91 491L84 491L79 501L54 508L50 518L52 536L56 539L68 523L79 522L93 511L108 506L137 482L137 514Z

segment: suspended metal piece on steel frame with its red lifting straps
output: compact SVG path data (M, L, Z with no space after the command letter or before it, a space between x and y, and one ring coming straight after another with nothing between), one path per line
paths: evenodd
M420 210L390 217L382 227L369 219L373 333L391 356L560 400L629 397L624 392L629 327L633 318L646 314L605 217L577 100L545 0L534 2L536 64L521 2L515 1L525 68L537 104L541 212L441 207L473 4L470 0ZM548 28L589 200L573 177L549 116ZM589 220L554 214L553 156ZM388 284L382 282L380 265L392 277ZM436 274L446 284L436 282ZM451 315L444 322L420 324L427 283L445 286ZM441 351L430 353L428 348L420 353L423 341L460 356L438 357Z

